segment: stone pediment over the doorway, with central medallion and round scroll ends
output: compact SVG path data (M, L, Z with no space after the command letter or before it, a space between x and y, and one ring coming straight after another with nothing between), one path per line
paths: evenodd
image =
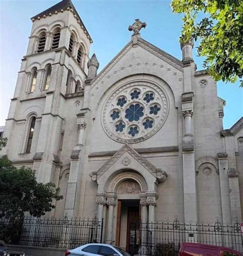
M136 152L128 144L125 144L122 148L120 148L102 167L100 167L97 171L93 171L90 173L90 177L92 181L97 181L112 165L114 165L117 161L121 163L124 168L131 168L131 162L138 162L142 165L147 171L149 171L158 182L164 182L167 178L167 174L165 171L156 168L153 164L151 164L148 160L146 160L143 156Z

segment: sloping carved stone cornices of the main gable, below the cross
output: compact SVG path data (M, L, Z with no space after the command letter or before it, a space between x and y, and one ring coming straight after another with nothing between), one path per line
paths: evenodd
M142 39L142 38L137 38L137 45L140 47L144 48L145 50L149 51L150 53L154 54L161 60L167 62L168 64L172 65L174 68L178 70L183 69L183 63L178 60L177 58L173 57L169 53L159 49L158 47L154 46L153 44L149 43L148 41ZM122 58L129 49L132 48L132 41L130 41L122 50L120 50L114 58L103 68L102 71L98 73L98 75L94 78L94 80L91 82L91 85L97 84L102 77L106 75L106 73Z

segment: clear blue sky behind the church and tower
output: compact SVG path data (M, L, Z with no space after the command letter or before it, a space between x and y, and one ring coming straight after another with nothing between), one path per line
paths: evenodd
M44 11L58 0L0 0L0 126L5 125L10 99L13 97L21 58L26 54L32 22L30 17ZM173 14L170 0L72 0L88 29L100 63L99 71L130 41L128 26L135 18L146 22L141 36L181 59L178 38L182 15ZM194 48L197 70L203 58ZM218 82L218 96L226 100L224 128L230 128L243 115L243 89Z

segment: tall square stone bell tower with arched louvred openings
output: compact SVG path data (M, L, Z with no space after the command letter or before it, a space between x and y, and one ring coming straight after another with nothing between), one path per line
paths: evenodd
M8 146L3 153L13 163L36 170L39 182L53 182L60 165L65 110L71 101L82 102L92 39L71 0L31 21L27 53L6 120Z

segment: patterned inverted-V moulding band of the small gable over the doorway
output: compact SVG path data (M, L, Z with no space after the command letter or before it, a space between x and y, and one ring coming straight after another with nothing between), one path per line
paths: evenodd
M97 179L102 176L102 174L110 168L112 164L114 164L118 159L120 159L126 152L128 152L136 161L138 161L141 165L143 165L150 173L152 173L156 177L156 167L152 165L148 160L146 160L143 156L137 153L133 148L131 148L128 144L125 144L122 148L120 148L102 167L100 167L97 172Z

